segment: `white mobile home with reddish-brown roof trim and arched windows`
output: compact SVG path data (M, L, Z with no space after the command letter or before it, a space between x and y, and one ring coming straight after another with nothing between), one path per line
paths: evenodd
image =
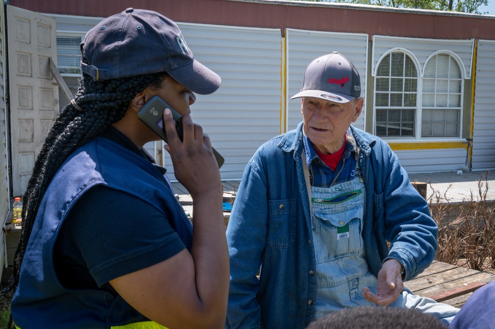
M75 91L85 33L139 5L104 4L7 6L0 221L10 199L24 192L43 134ZM362 77L365 110L355 126L385 139L409 173L495 168L495 16L277 0L150 0L141 8L176 21L195 57L222 78L215 94L192 106L195 122L225 157L222 180L239 180L263 142L302 120L300 101L290 96L306 65L332 51L349 57ZM48 44L51 52L40 53ZM173 179L161 145L149 148Z

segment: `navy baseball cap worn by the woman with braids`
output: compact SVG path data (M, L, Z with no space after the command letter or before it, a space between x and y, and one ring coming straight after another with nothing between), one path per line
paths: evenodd
M92 28L81 43L88 63L81 69L96 80L166 71L196 94L212 94L220 77L194 59L177 24L151 10L127 8Z

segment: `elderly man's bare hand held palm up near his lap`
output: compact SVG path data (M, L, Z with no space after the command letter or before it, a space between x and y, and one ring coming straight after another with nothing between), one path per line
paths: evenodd
M402 282L402 265L395 259L387 260L378 273L378 292L375 295L368 288L363 288L363 297L377 305L387 306L399 297L404 284Z

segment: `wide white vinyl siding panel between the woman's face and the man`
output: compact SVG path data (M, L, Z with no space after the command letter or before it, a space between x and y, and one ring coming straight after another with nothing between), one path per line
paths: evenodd
M258 147L280 133L280 30L177 25L194 58L222 79L214 94L197 95L191 112L225 158L221 179L240 179ZM165 168L173 172L168 159Z

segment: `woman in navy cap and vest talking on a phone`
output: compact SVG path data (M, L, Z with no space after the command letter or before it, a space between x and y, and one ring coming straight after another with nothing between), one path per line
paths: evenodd
M24 194L11 314L17 328L222 328L228 251L211 142L192 122L220 77L196 61L165 16L128 8L81 44L78 91L56 119ZM137 117L154 95L174 174L194 202L194 230L165 169L143 148L160 138ZM19 270L20 268L20 270Z

